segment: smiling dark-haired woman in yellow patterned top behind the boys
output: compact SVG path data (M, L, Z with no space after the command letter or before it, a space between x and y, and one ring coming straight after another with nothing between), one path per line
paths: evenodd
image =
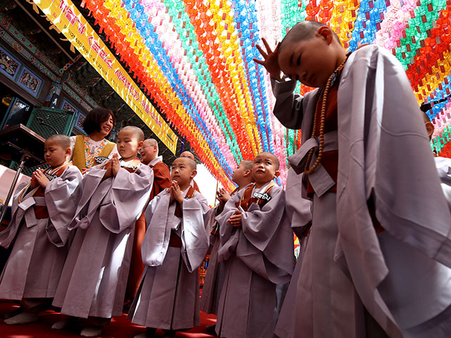
M105 138L109 136L115 123L116 118L111 110L94 108L83 121L83 130L88 136L70 137L72 162L82 173L106 158L111 158L113 154L118 154L116 144Z

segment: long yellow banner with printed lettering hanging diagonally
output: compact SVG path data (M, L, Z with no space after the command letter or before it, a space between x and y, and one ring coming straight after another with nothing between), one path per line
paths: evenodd
M177 136L70 0L33 0L116 93L175 154Z

